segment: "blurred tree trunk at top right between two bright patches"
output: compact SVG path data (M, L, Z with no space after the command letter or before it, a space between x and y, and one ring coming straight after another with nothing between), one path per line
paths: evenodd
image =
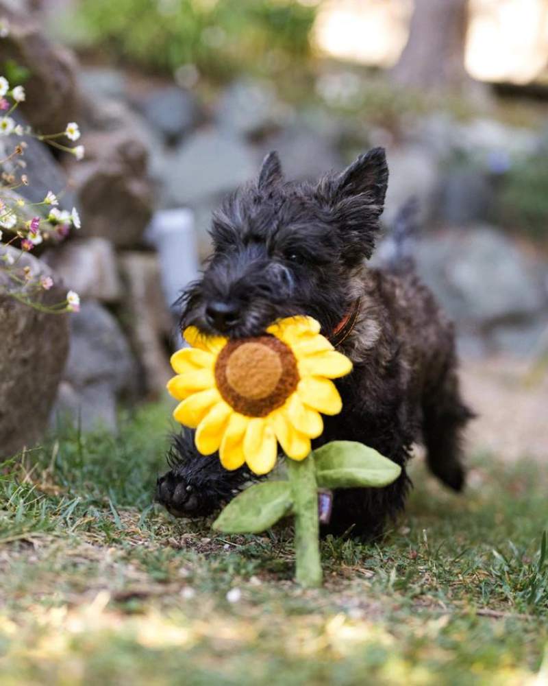
M423 90L458 90L464 69L468 0L415 0L409 40L393 69L394 80Z

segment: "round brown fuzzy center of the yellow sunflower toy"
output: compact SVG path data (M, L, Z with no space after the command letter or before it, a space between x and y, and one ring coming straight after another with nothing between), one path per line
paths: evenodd
M236 412L264 417L295 391L299 372L291 349L264 335L227 343L215 364L215 380Z

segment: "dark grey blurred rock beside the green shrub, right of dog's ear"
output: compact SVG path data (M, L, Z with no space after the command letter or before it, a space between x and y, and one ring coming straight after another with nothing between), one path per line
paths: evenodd
M495 189L488 175L474 166L449 172L440 192L436 216L440 222L462 226L484 222L490 216Z

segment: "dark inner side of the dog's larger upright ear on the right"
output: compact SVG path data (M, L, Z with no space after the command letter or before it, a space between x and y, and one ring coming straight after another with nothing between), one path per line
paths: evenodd
M337 195L340 200L363 196L372 214L382 214L388 187L388 165L384 147L375 147L360 155L340 174Z

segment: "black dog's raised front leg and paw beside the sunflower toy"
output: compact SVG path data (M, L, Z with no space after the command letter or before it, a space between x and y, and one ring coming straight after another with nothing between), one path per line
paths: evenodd
M155 501L174 517L207 517L253 480L244 467L227 471L218 453L201 455L190 429L175 436L168 463L171 471L158 478Z

